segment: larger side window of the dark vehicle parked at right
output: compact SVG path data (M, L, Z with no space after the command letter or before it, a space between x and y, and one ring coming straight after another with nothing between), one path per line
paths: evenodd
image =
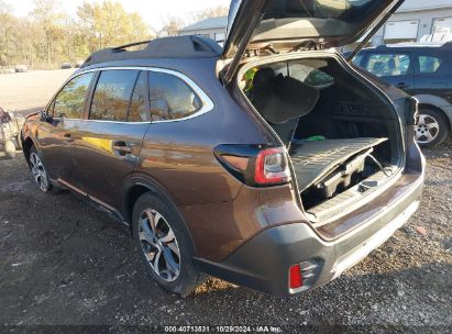
M409 66L406 54L371 54L366 69L377 77L395 77L408 74Z

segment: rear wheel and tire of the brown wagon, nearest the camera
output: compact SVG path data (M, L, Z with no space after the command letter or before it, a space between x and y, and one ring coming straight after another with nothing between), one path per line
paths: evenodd
M132 224L147 275L161 288L186 297L202 283L205 276L195 269L194 246L175 205L146 192L135 202Z

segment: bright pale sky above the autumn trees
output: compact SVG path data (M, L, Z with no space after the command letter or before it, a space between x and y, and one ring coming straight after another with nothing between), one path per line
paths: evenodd
M77 7L84 0L59 0L63 10L75 15ZM101 0L87 0L88 2L101 2ZM194 11L210 7L228 5L230 0L117 0L130 12L137 12L155 30L162 27L162 18L189 15ZM25 16L33 10L33 0L7 0L18 16Z

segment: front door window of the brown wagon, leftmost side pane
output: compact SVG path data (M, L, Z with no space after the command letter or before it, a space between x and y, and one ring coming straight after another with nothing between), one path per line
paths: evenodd
M54 102L54 116L82 119L89 82L93 74L78 76L66 84Z

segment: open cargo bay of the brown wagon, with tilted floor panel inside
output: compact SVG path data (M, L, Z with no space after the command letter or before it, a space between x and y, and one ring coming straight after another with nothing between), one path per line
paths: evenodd
M386 183L400 165L393 107L331 58L247 70L241 88L288 149L302 209L321 224Z

